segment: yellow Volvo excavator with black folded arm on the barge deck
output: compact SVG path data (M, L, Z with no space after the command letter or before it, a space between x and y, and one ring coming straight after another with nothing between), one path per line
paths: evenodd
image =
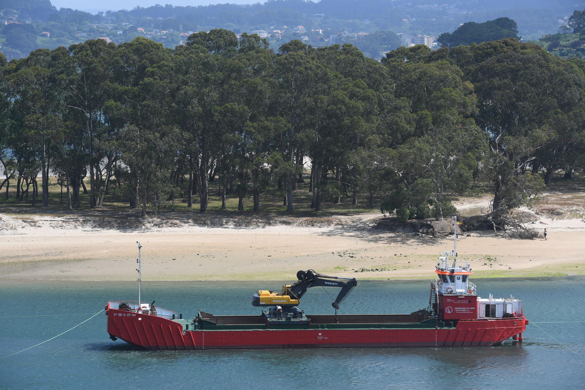
M331 305L335 310L339 309L339 304L349 295L357 286L355 278L340 278L338 276L327 276L315 272L312 269L308 271L297 272L298 281L294 285L283 286L283 292L273 292L272 290L259 290L252 296L253 306L281 306L284 312L295 311L292 309L300 303L301 297L311 287L339 287L339 292L335 302ZM347 281L342 281L347 280ZM289 310L287 310L289 309ZM290 310L292 309L292 310Z

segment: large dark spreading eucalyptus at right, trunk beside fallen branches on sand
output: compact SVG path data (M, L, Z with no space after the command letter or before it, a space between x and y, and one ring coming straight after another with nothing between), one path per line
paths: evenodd
M475 119L489 139L486 172L497 217L541 189L542 180L526 167L554 140L555 117L570 116L582 105L583 76L541 47L514 39L466 50L467 60L459 66L479 99Z

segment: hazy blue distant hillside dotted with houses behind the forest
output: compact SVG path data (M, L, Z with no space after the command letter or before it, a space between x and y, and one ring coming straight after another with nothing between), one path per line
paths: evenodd
M8 59L18 59L26 57L31 47L55 49L98 38L122 43L137 36L172 49L185 43L193 32L223 28L236 35L263 30L274 50L295 39L314 47L352 43L379 60L400 45L408 46L413 35L437 37L462 23L501 17L516 20L523 39L536 40L555 31L558 20L573 12L573 4L566 1L519 0L514 6L473 0L455 4L423 0L271 0L252 5L137 6L92 15L76 9L56 9L49 0L0 0L0 52ZM358 37L358 33L362 35ZM398 39L396 33L403 33L403 38Z

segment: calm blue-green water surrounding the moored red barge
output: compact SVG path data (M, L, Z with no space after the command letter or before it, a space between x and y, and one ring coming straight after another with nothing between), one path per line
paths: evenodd
M585 277L474 279L479 295L523 300L531 321L585 321ZM137 299L136 283L1 282L1 316L96 313L108 300ZM257 314L250 305L258 289L281 282L145 282L144 302L192 318ZM336 296L335 289L329 294ZM360 281L340 313L410 313L426 307L427 281ZM332 313L319 288L302 299L307 313ZM8 355L70 329L85 316L0 319L0 355ZM539 324L585 356L585 323ZM106 317L54 340L0 359L0 388L571 388L583 386L585 360L535 326L524 343L494 347L339 348L314 350L146 351L111 341Z

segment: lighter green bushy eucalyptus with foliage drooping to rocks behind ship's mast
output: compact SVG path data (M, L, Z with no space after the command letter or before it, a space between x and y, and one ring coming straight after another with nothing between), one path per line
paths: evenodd
M414 136L391 154L396 183L407 190L425 190L436 220L442 220L443 208L453 210L445 191L468 188L484 152L486 137L470 118L477 102L473 86L459 67L445 60L388 60L386 65L395 80L395 95L407 98L416 118ZM411 206L421 217L428 214L421 210L424 204L404 205L408 210Z

